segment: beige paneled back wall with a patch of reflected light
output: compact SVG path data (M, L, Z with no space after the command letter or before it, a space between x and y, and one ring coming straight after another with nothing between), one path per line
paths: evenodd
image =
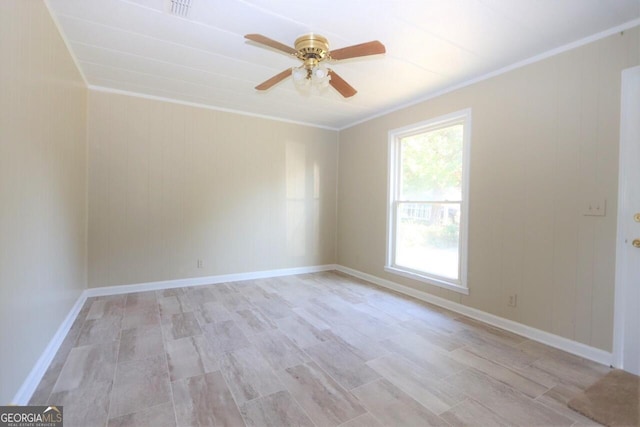
M335 262L337 132L96 91L88 111L90 287Z

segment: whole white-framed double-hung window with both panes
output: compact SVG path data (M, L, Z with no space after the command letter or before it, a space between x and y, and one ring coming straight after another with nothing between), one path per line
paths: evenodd
M389 132L387 265L468 294L471 110Z

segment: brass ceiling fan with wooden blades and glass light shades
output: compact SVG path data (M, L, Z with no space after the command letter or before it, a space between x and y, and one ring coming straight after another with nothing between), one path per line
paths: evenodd
M247 34L244 37L253 42L294 56L302 61L302 65L299 67L286 69L271 77L269 80L260 83L256 86L257 90L267 90L287 77L293 76L296 82L312 83L320 86L329 84L340 92L342 96L348 98L355 95L357 91L335 71L328 68L326 62L377 55L386 52L384 45L377 40L330 51L329 41L325 37L313 33L298 37L294 44L295 48L261 34Z

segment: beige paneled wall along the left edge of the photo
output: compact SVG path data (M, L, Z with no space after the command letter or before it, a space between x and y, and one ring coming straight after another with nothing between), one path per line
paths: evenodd
M41 1L0 1L0 404L86 287L86 89Z

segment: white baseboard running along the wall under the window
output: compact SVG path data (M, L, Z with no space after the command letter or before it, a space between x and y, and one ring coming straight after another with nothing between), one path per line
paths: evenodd
M405 295L412 296L419 300L437 305L439 307L446 308L456 313L462 314L472 319L479 320L492 326L513 332L518 335L522 335L525 338L532 339L534 341L541 342L551 347L558 348L576 356L583 357L585 359L593 360L594 362L602 363L603 365L610 366L613 355L599 348L591 347L577 341L570 340L568 338L561 337L549 332L542 331L540 329L532 328L531 326L523 325L522 323L514 322L513 320L505 319L485 311L481 311L466 305L462 305L453 301L449 301L444 298L431 295L427 292L410 288L408 286L400 285L390 280L382 279L371 274L363 273L358 270L354 270L349 267L337 265L336 270L349 274L354 277L366 280L384 288L392 289L394 291L403 293Z

